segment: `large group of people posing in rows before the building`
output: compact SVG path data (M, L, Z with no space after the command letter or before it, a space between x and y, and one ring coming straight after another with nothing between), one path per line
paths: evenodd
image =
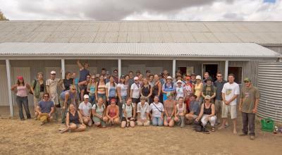
M243 132L255 139L255 113L259 102L259 90L253 87L249 78L244 79L244 87L240 90L234 82L233 74L228 81L222 74L216 74L213 81L209 73L200 75L176 73L173 78L167 70L152 75L150 70L143 76L139 70L135 75L118 77L118 70L110 75L102 68L101 74L90 75L88 63L80 63L80 76L66 72L65 79L56 78L56 71L51 71L48 80L38 73L37 79L30 85L22 76L11 87L16 92L20 119L24 120L23 106L30 117L27 94L34 96L35 119L41 124L53 118L66 124L60 132L82 131L94 123L98 127L120 124L121 128L135 125L165 125L173 127L195 122L201 123L205 133L209 123L212 132L228 127L228 114L233 122L233 133L237 134L237 98L240 96L239 111L242 112ZM59 89L62 90L59 94ZM80 104L79 104L80 103Z

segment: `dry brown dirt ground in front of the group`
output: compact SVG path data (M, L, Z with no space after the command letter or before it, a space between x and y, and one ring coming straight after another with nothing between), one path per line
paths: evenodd
M1 109L0 109L1 112ZM238 118L238 131L241 121ZM185 128L87 128L60 134L60 123L0 116L0 154L281 154L282 134L262 132L256 139L232 134L232 128L209 135Z

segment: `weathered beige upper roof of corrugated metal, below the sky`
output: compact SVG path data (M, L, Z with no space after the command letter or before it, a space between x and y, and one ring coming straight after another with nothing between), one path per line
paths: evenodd
M282 44L281 27L282 22L1 21L0 42Z

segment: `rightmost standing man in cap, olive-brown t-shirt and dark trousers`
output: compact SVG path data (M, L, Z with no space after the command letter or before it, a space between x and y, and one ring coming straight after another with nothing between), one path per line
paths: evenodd
M259 104L259 89L252 86L250 78L244 79L245 87L240 93L239 111L242 112L243 130L240 136L249 132L250 140L255 140L255 113Z

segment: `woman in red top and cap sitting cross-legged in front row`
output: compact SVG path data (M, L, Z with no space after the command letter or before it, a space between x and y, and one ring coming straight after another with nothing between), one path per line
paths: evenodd
M103 120L109 125L119 124L119 108L116 105L116 99L111 99L111 104L106 107L106 116Z

